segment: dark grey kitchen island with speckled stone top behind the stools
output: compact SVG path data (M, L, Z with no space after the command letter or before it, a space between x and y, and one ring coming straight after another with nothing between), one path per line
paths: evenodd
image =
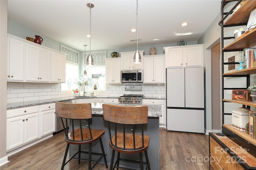
M118 106L132 106L132 104L112 104ZM138 106L138 104L134 104L134 106ZM144 125L144 134L150 136L150 143L148 145L148 157L150 162L150 168L152 170L159 170L159 117L161 116L161 106L148 105L148 124ZM74 124L74 128L76 128L76 124ZM70 126L71 127L71 126ZM102 103L92 103L92 121L91 128L94 129L104 129L105 134L102 136L102 143L104 146L106 159L108 164L110 164L112 149L109 146L109 134L108 134L108 124L103 119L103 111L102 111ZM72 130L72 129L71 129ZM127 129L129 131L130 129ZM88 146L81 146L82 150L88 150ZM73 155L77 152L78 146L70 145L70 155ZM96 142L92 145L92 152L101 152L100 143ZM142 154L144 155L144 154ZM83 156L83 154L81 154ZM88 158L88 155L84 155L84 158ZM117 156L117 154L115 154ZM120 154L122 156L122 154ZM128 159L139 159L139 154L126 154L125 158ZM123 156L123 157L124 157ZM145 160L145 156L143 156ZM92 155L92 160L96 160L94 155ZM104 160L100 161L104 164ZM139 169L139 164L130 164L128 162L122 162L120 165L125 165L130 168Z

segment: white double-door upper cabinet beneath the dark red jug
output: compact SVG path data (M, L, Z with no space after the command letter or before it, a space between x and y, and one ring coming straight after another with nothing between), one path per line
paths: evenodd
M27 44L26 81L50 82L51 52L48 49Z

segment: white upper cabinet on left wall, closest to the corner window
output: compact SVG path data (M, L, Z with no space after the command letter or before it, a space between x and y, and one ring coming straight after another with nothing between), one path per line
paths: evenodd
M66 82L66 56L60 53L51 53L52 74L51 82Z

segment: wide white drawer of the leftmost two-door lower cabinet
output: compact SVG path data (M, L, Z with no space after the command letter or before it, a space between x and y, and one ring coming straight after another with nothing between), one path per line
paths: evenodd
M8 109L6 118L16 117L20 115L27 115L39 111L39 106L22 107L18 109Z

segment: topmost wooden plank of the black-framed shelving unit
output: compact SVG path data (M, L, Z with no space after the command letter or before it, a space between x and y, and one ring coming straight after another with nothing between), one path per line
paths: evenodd
M228 18L224 25L231 25L237 23L247 23L252 10L256 8L255 0L242 1L241 7Z

